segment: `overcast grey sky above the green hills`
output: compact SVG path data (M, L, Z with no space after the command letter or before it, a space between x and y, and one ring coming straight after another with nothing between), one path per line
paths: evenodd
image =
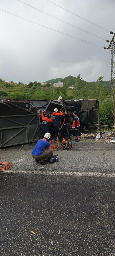
M22 0L103 39L109 32L59 8L47 0ZM115 32L115 0L51 0L57 5ZM63 23L17 0L0 0L0 9L79 39L106 46L106 41ZM82 42L0 11L0 78L14 82L46 81L77 76L96 81L111 79L110 50Z

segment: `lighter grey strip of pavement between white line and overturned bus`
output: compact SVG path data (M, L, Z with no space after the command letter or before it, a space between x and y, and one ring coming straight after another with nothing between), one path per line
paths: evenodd
M72 150L55 151L59 161L41 166L31 156L34 144L0 149L0 162L11 162L11 171L61 173L113 173L115 172L115 145L103 141L72 142Z

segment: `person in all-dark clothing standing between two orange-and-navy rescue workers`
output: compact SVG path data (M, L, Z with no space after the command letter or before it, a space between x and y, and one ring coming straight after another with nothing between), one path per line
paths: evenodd
M62 126L62 137L64 137L64 134L67 134L67 138L70 139L70 120L69 120L69 114L68 111L64 112L64 123Z

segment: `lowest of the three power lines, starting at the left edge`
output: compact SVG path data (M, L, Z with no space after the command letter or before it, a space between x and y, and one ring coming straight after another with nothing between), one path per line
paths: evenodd
M63 32L61 32L61 31L58 31L58 30L56 30L56 29L49 28L49 27L44 26L44 25L42 25L42 24L39 24L39 23L37 23L37 22L35 22L35 21L28 20L28 19L26 19L26 18L20 17L20 16L18 16L18 15L16 15L16 14L13 14L13 13L11 13L11 12L7 12L7 11L2 10L2 9L0 9L0 11L2 11L2 12L6 12L6 13L9 13L9 14L11 14L11 15L13 15L13 16L16 16L16 17L18 17L18 18L21 18L21 19L23 19L23 20L30 21L30 22L32 22L32 23L34 23L34 24L39 25L39 26L42 26L42 27L44 27L44 28L48 28L48 29L53 30L53 31L56 31L56 32L58 32L58 33L60 33L60 34L63 34L63 35L66 35L66 36L69 36L69 37L75 38L75 39L80 40L80 41L83 41L83 42L85 42L85 43L92 44L92 45L98 46L98 47L100 47L100 48L103 48L103 47L102 47L102 46L100 46L100 45L93 44L93 43L91 43L91 42L87 42L87 41L85 41L85 40L83 40L83 39L80 39L80 38L77 38L77 37L74 37L74 36L68 35L68 34L63 33Z

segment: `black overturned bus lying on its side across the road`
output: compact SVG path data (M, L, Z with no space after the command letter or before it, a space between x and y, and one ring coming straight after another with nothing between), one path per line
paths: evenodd
M72 125L72 112L76 111L80 120L80 132L97 129L99 116L98 100L0 100L0 148L36 142L42 134L41 111L52 113L54 108L67 110ZM70 125L70 133L74 134ZM53 124L50 124L53 138Z

